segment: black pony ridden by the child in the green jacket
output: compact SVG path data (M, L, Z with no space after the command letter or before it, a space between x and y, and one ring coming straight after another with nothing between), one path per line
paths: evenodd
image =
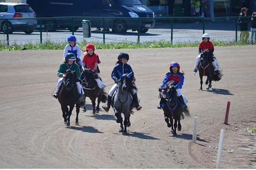
M76 71L65 71L65 77L63 78L63 83L58 91L58 100L61 105L62 117L64 118L64 123L70 126L70 116L76 105L76 125L78 125L78 114L80 111L80 102L77 98L77 91L75 82L79 81L76 78ZM69 109L68 109L69 106Z

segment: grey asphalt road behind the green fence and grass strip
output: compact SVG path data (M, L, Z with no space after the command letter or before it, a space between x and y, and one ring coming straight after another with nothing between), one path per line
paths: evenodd
M249 26L250 27L250 26ZM75 36L78 39L78 43L86 40L103 43L103 31L94 31L92 28L92 37L83 38L82 28L79 28L75 32ZM218 23L206 23L205 33L210 33L211 38L218 41L234 41L236 39L236 24L235 22L218 22ZM46 40L51 41L61 41L65 42L66 38L71 34L68 30L57 30L55 32L42 32L43 42ZM196 42L201 40L203 34L203 24L202 23L175 23L173 24L173 43L178 42ZM238 29L237 36L239 40L240 31ZM5 40L6 35L2 32L0 33L0 39ZM40 32L35 30L31 35L26 35L24 32L13 32L9 37L10 44L27 44L37 43L40 41ZM171 24L157 24L154 28L149 29L147 33L141 33L140 43L143 42L153 42L164 39L166 41L171 41ZM106 31L105 42L106 43L122 43L122 42L137 42L138 32L137 31L127 31L124 34L117 34ZM4 41L6 42L6 41Z

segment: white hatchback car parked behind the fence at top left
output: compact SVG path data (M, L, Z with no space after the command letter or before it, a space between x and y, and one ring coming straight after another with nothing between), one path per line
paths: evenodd
M8 20L9 33L13 31L23 31L30 34L34 32L37 27L36 13L28 4L0 3L0 29L4 33L7 33L6 19L22 19Z

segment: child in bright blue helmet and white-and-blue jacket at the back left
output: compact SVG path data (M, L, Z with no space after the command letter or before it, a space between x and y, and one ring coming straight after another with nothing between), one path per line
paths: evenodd
M78 58L78 65L83 67L83 62L81 60L81 49L80 47L76 44L76 37L73 35L68 36L68 45L65 47L64 49L64 53L63 53L63 58L65 58L65 56L68 53L73 53L75 54L75 56Z

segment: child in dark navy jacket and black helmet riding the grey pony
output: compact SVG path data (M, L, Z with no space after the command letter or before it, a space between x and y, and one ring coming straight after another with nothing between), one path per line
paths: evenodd
M134 79L134 72L132 70L132 67L130 64L127 64L127 62L129 61L129 54L127 53L120 53L118 55L118 62L115 65L112 73L111 73L111 78L115 81L114 86L110 89L109 94L108 94L108 103L107 106L103 106L102 108L105 109L106 112L109 111L110 105L111 105L111 99L112 96L114 95L114 92L117 90L118 88L118 81L120 80L120 76L118 74L118 71L123 75L126 73L133 73L130 77L131 80ZM135 108L137 109L137 111L140 111L140 109L142 108L139 105L139 101L138 101L138 96L137 96L137 92L135 89L132 89L130 91L132 98L134 100L135 103Z

